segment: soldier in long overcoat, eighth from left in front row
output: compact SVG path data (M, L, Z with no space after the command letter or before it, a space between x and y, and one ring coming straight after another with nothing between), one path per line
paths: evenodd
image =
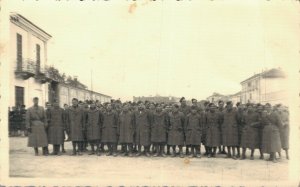
M151 142L155 146L155 157L159 155L166 156L164 148L167 143L167 128L167 113L162 110L162 106L159 104L152 114L151 123Z

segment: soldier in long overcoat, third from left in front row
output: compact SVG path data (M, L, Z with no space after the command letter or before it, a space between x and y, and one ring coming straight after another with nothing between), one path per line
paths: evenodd
M81 147L83 142L84 112L78 106L78 99L76 98L72 99L72 106L68 109L67 119L67 128L70 132L70 139L73 146L72 155L82 155Z

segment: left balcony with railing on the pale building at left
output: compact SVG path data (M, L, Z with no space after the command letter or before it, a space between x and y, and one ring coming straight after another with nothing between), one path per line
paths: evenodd
M17 77L26 80L36 74L36 64L32 59L22 59L17 61L16 64L15 74Z

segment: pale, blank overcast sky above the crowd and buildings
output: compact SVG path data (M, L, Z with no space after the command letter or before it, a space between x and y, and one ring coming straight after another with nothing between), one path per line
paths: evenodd
M296 1L7 3L53 36L48 65L89 88L92 72L94 91L123 100L234 94L263 69L298 67Z

